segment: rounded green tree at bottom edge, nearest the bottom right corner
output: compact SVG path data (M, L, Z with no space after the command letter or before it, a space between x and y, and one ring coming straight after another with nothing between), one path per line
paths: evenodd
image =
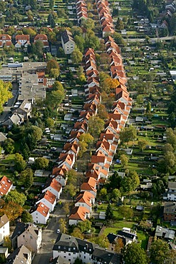
M170 249L167 242L158 239L150 247L150 260L153 264L164 264L169 257Z

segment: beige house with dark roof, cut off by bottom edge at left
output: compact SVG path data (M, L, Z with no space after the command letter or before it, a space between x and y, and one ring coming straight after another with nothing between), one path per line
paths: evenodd
M13 253L9 254L6 258L6 264L31 264L32 263L32 253L26 248L25 245L21 245L19 248L16 248Z

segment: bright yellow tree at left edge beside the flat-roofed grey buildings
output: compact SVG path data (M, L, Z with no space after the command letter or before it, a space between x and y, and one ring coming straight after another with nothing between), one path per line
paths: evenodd
M12 98L11 83L0 80L0 113L3 111L3 105Z

